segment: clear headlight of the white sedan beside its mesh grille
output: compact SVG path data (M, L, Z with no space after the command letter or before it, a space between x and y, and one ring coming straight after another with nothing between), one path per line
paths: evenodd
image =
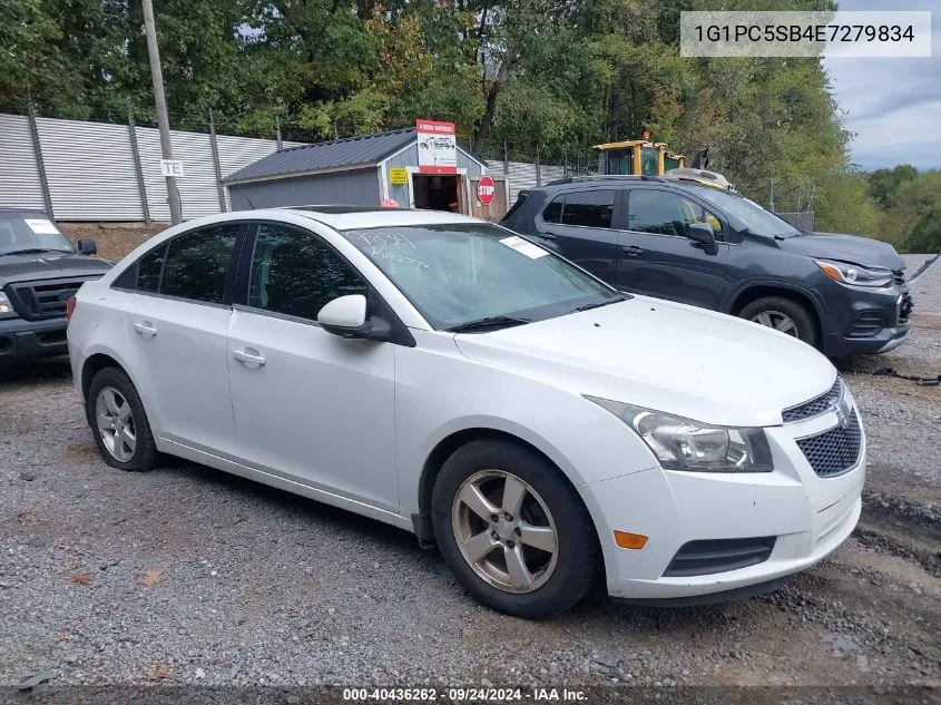
M706 425L660 411L586 396L634 429L668 470L770 472L771 448L762 429Z

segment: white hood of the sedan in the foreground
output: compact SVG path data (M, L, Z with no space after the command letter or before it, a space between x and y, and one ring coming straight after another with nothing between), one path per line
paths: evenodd
M592 311L457 334L473 361L698 421L776 425L836 371L816 350L756 323L635 296Z

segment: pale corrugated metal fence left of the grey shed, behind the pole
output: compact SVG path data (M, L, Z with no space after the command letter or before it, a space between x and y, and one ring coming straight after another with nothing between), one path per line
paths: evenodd
M186 173L177 179L183 217L228 210L227 194L220 203L212 135L171 130L170 139ZM216 136L216 145L223 178L277 148L271 139L225 135ZM0 207L47 210L43 175L58 221L170 219L156 129L0 114Z

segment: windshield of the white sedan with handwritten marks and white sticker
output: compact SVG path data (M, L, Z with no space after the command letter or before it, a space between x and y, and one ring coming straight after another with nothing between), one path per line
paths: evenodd
M528 323L625 297L548 249L487 223L355 229L343 236L438 330L484 320L493 327Z

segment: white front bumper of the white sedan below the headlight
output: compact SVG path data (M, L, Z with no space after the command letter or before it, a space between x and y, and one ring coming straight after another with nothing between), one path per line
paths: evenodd
M581 486L605 556L608 593L629 600L677 600L731 594L798 572L822 560L853 531L862 509L865 439L856 463L820 477L796 444L836 423L835 414L766 429L775 470L682 472L653 468ZM614 531L648 537L640 550L618 548ZM775 537L757 565L665 576L690 541Z

